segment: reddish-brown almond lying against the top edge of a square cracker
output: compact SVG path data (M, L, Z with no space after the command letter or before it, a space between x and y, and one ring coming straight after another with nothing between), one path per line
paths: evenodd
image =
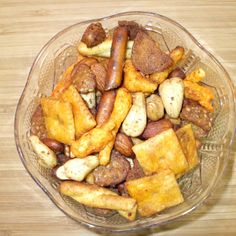
M152 121L147 124L146 128L143 131L142 137L144 139L149 139L172 127L173 127L173 124L168 119Z

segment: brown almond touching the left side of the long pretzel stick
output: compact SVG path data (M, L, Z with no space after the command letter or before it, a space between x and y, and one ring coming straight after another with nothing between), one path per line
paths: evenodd
M102 63L96 63L91 66L91 70L95 74L97 89L103 93L105 91L107 73L105 66Z

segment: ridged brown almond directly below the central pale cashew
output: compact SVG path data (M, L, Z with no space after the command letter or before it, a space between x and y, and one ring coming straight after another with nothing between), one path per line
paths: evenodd
M133 142L131 138L125 134L118 133L115 140L115 149L122 155L130 157L133 155Z

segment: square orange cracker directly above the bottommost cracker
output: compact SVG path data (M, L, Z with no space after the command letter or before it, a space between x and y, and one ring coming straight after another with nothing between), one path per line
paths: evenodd
M132 149L145 174L170 169L177 175L184 173L188 168L188 163L173 129L163 131L133 146Z

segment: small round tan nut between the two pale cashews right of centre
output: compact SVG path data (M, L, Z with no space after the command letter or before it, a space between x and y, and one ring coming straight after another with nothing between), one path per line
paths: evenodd
M157 121L164 116L164 106L161 98L152 94L146 99L147 117L152 121Z

